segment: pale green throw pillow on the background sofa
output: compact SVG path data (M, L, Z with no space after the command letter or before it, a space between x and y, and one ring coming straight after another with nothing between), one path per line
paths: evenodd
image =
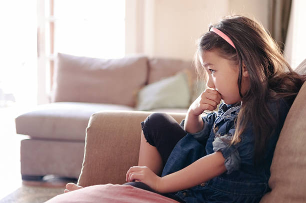
M161 79L143 87L138 92L136 110L157 108L188 108L190 90L186 71Z

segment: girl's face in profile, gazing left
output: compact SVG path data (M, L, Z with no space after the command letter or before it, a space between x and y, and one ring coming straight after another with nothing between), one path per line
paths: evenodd
M200 63L208 73L206 86L219 92L225 104L234 104L241 101L238 88L239 66L233 61L221 57L217 49L204 51L199 56ZM248 73L243 66L241 94L249 88Z

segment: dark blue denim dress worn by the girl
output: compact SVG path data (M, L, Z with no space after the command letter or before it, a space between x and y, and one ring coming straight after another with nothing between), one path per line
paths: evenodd
M283 99L268 104L276 118L277 128L268 141L264 161L260 166L255 168L253 164L254 133L251 124L240 135L240 142L229 145L240 104L221 104L218 112L202 117L204 127L200 132L187 133L175 145L161 177L217 151L222 153L227 171L198 186L169 195L186 203L258 203L270 191L269 168L278 135L289 110L289 105ZM184 120L180 125L183 127Z

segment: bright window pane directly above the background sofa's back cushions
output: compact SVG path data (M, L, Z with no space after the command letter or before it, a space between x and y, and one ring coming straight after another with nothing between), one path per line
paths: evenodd
M100 58L124 56L125 0L54 0L54 49Z

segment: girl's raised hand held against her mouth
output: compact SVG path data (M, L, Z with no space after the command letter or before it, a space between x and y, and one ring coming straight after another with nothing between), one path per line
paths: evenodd
M221 95L213 89L206 89L190 105L188 114L199 116L205 110L213 111L221 101Z

